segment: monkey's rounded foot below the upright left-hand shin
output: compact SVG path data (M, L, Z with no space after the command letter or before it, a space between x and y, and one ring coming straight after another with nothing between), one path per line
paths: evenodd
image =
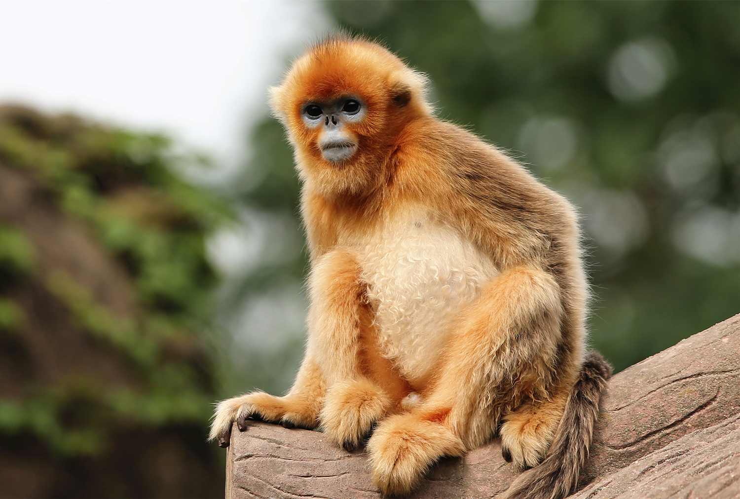
M326 392L321 426L335 444L354 450L392 407L393 401L386 392L369 380L336 384Z

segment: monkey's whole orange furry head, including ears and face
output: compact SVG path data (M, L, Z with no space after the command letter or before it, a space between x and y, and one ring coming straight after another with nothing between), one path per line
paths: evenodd
M426 78L379 44L329 38L298 58L270 89L304 181L324 194L381 180L403 127L431 115Z

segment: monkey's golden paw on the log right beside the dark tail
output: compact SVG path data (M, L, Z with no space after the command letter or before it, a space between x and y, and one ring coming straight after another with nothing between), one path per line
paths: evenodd
M501 453L506 461L527 469L542 462L553 441L565 403L525 405L506 416L501 425Z

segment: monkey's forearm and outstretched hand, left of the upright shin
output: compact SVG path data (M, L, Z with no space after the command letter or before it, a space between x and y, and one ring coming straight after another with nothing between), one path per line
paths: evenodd
M323 375L307 353L290 392L284 397L252 392L218 403L210 439L218 440L222 447L229 446L232 423L236 421L240 431L244 431L249 418L280 423L286 428L314 429L325 392Z

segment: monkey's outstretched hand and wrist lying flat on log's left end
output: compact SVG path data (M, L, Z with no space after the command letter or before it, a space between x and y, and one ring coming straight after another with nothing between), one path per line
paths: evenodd
M241 432L249 427L249 419L280 423L286 428L314 429L317 426L316 402L307 403L295 396L275 397L265 392L252 392L218 403L211 424L209 440L228 447L232 424L236 421Z

